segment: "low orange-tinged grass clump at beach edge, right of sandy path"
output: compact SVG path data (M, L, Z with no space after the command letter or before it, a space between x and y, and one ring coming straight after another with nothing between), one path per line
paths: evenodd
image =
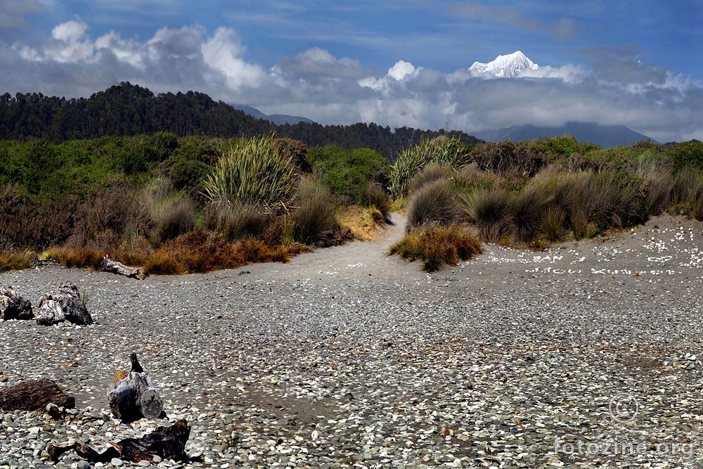
M423 271L438 271L456 265L482 252L481 242L465 226L423 226L407 233L391 246L389 255L397 254L408 262L418 260Z

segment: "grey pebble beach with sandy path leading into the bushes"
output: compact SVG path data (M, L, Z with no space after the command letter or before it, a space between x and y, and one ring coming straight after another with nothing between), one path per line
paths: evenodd
M289 264L1 274L32 302L74 282L98 323L0 323L0 385L56 380L79 409L0 413L0 469L54 467L51 441L99 450L182 417L191 460L159 467L703 467L699 224L657 217L546 252L488 245L427 275L385 255L396 221ZM168 420L108 416L130 352ZM93 467L118 465L137 466ZM56 467L87 466L68 453Z

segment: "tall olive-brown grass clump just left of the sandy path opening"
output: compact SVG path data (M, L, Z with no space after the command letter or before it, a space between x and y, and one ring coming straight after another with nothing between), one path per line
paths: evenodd
M300 181L298 207L290 213L295 239L307 245L328 245L338 228L328 188L316 179Z

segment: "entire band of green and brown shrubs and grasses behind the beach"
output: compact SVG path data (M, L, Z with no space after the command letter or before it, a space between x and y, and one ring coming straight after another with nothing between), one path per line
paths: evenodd
M391 165L368 148L270 134L0 141L0 270L97 266L105 254L152 274L285 262L373 238L392 210L408 219L393 252L428 270L475 255L475 240L541 249L662 212L703 219L703 143L441 136Z

